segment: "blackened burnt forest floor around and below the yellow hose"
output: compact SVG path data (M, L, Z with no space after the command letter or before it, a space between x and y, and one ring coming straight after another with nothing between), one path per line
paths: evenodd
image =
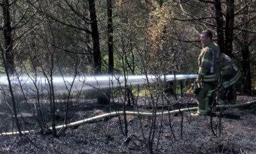
M170 98L174 99L174 98ZM152 108L139 98L139 111L151 112ZM238 96L238 103L256 100L256 96ZM178 98L170 110L177 107L196 106L194 96ZM146 105L143 105L146 104ZM162 107L158 108L159 111ZM168 109L164 106L164 110ZM78 121L109 112L108 105L96 100L84 100L75 108L71 121ZM111 110L122 110L122 104L112 103ZM127 106L127 110L137 110ZM256 104L239 108L227 108L219 116L189 117L189 112L170 117L158 116L154 128L152 149L154 153L256 153ZM25 115L25 114L24 114ZM24 116L28 128L36 127L32 115ZM183 119L182 119L183 118ZM140 119L140 120L139 120ZM11 131L11 119L1 115L1 131ZM183 123L182 123L183 121ZM127 116L127 136L123 135L123 116L98 119L65 134L53 137L49 133L30 133L0 136L0 153L148 153L148 141L152 128L152 117ZM161 123L162 122L162 123ZM220 123L221 122L221 123ZM181 127L181 125L183 127ZM30 126L30 127L29 127ZM182 129L182 131L181 131ZM214 133L217 136L214 136Z

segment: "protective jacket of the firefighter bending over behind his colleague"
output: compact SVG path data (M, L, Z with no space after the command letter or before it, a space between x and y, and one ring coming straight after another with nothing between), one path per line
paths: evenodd
M242 76L241 70L239 70L229 56L222 53L220 55L220 64L222 88L228 88L228 86L232 86L240 80Z

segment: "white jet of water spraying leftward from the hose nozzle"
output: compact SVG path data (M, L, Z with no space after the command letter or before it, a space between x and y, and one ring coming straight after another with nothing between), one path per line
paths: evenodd
M157 80L184 80L189 78L196 78L197 74L177 74L177 75L166 75L166 76L152 76L148 75L148 80L150 83L156 82ZM36 89L41 92L49 91L49 82L47 82L45 76L11 76L11 85L16 92L20 91L20 85L26 94L35 94ZM126 76L127 85L136 85L136 84L146 84L146 76L145 75L134 75L134 76ZM72 84L73 82L73 84ZM7 88L8 82L5 74L0 75L0 86L1 90L3 88ZM72 88L71 88L71 85ZM90 90L93 88L108 88L108 87L117 87L125 85L125 76L53 76L53 87L55 93L67 92L67 89L72 92L77 90Z

